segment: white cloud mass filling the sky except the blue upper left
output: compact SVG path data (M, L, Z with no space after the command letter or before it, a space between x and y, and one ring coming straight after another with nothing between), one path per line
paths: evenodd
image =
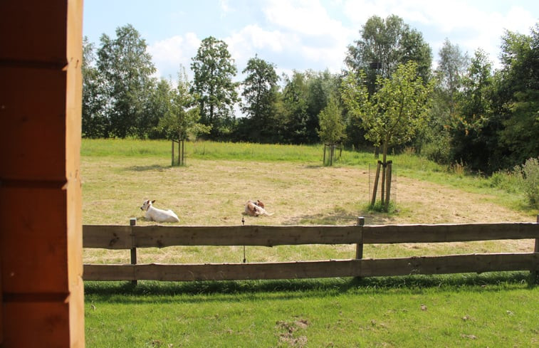
M469 56L482 48L496 66L504 29L529 34L537 21L535 9L515 1L518 4L500 9L501 4L486 0L481 4L464 0L267 0L258 2L257 9L246 9L248 2L219 0L216 11L223 23L234 23L226 29L217 26L215 31L206 26L205 32L228 44L239 75L255 54L276 64L278 71L329 68L338 72L344 67L347 46L359 38L367 19L396 14L423 33L434 61L444 39L449 38ZM189 66L201 42L198 36L207 34L199 32L197 23L190 28L194 32L180 32L148 47L159 75L175 78L182 64L192 78Z

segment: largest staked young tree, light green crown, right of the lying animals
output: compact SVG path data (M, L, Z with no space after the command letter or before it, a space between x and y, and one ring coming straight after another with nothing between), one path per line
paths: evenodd
M343 81L342 99L356 117L362 120L365 137L382 146L382 166L387 165L387 149L394 145L404 144L426 124L428 115L428 97L431 83L424 85L423 79L417 75L417 63L409 61L399 65L391 78L377 79L380 90L369 97L367 88L357 80L365 79L349 75ZM384 174L382 172L382 205L385 209L389 197L384 197ZM372 203L376 196L373 192Z

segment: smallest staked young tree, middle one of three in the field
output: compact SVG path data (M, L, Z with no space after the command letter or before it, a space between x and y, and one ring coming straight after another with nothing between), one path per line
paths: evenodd
M345 124L342 121L342 112L335 97L330 97L328 105L320 111L318 119L320 120L320 130L318 130L318 135L324 144L324 158L325 145L328 145L330 148L329 163L332 165L335 145L341 142L342 138L345 137Z

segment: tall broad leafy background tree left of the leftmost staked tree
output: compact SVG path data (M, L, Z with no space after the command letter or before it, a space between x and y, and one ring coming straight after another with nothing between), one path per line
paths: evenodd
M136 135L137 120L143 112L155 72L146 41L130 24L116 29L116 38L101 36L98 69L107 86L110 102L111 134L116 137Z

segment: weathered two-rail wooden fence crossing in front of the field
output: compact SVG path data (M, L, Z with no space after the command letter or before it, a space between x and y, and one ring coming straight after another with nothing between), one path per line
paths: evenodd
M85 264L85 280L262 280L539 270L538 223L364 226L83 226L84 248L130 249L131 264ZM362 258L363 245L535 239L530 253ZM137 264L137 248L356 244L348 260Z

